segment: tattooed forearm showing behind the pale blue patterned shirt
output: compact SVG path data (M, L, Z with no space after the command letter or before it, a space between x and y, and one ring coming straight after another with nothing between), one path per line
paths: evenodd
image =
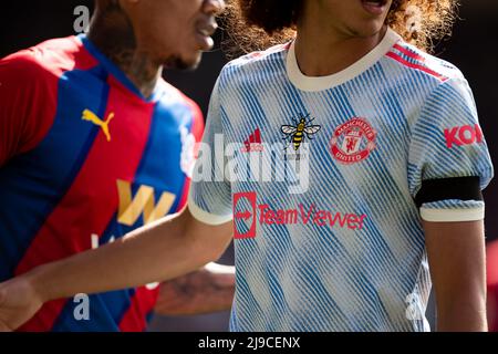
M160 284L155 312L162 315L193 315L231 308L235 268L210 263L194 273Z

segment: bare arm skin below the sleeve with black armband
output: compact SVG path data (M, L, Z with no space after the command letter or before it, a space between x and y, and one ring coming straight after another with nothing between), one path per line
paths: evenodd
M424 221L438 331L486 331L484 222Z

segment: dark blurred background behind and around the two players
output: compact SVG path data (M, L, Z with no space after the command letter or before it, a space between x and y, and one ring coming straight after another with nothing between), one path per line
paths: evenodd
M460 0L461 7L453 37L437 43L435 54L457 65L474 90L480 123L485 132L494 165L498 156L498 1ZM0 12L0 58L51 38L76 34L74 9L92 0L3 1ZM217 46L206 53L195 72L165 72L165 79L196 101L205 115L209 96L222 65L227 62L219 48L222 31L216 35ZM488 241L498 239L498 183L495 179L485 190L486 235ZM229 249L221 263L232 264ZM429 311L430 312L430 311ZM429 315L433 322L433 315ZM189 317L156 316L151 331L226 331L228 313Z

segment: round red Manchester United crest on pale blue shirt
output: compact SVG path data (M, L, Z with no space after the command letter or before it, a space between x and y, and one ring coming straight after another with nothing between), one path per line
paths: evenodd
M376 132L365 118L352 118L338 127L331 140L332 156L341 164L364 160L375 148Z

